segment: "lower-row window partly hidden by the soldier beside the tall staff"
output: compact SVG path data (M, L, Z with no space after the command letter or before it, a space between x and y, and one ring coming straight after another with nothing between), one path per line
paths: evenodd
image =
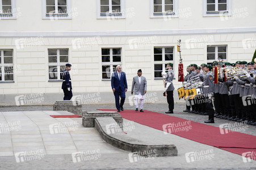
M167 63L174 63L173 50L173 47L154 48L154 78L162 78L161 73L166 71Z

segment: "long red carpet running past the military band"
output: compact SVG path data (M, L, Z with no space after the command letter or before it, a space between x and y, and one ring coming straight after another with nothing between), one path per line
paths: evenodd
M116 111L116 109L99 110ZM162 130L166 133L175 134L179 137L211 145L256 160L256 136L254 135L224 130L219 127L146 110L143 113L126 109L124 112L121 111L120 114L127 120L135 121L150 128ZM230 124L234 125L235 122L230 122ZM231 128L233 127L231 126ZM244 155L243 153L245 152L248 153Z

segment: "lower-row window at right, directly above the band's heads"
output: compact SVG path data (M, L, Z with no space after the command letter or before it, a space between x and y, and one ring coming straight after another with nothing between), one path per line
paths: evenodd
M220 46L207 46L207 63L213 61L223 60L226 61L226 45Z

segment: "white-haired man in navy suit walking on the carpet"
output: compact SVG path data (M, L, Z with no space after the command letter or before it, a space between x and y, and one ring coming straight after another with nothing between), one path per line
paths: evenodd
M128 86L125 73L122 71L120 65L117 65L116 71L112 73L111 87L115 95L117 112L120 112L120 109L121 111L124 111L123 105L125 101L125 92L127 92ZM119 97L121 97L120 103Z

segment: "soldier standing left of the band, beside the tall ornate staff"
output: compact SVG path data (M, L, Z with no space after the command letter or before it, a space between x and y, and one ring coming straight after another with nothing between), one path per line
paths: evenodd
M173 109L174 109L173 63L167 63L166 68L168 69L168 72L165 75L165 91L167 94L167 103L169 104L169 111L167 111L165 113L173 113Z

